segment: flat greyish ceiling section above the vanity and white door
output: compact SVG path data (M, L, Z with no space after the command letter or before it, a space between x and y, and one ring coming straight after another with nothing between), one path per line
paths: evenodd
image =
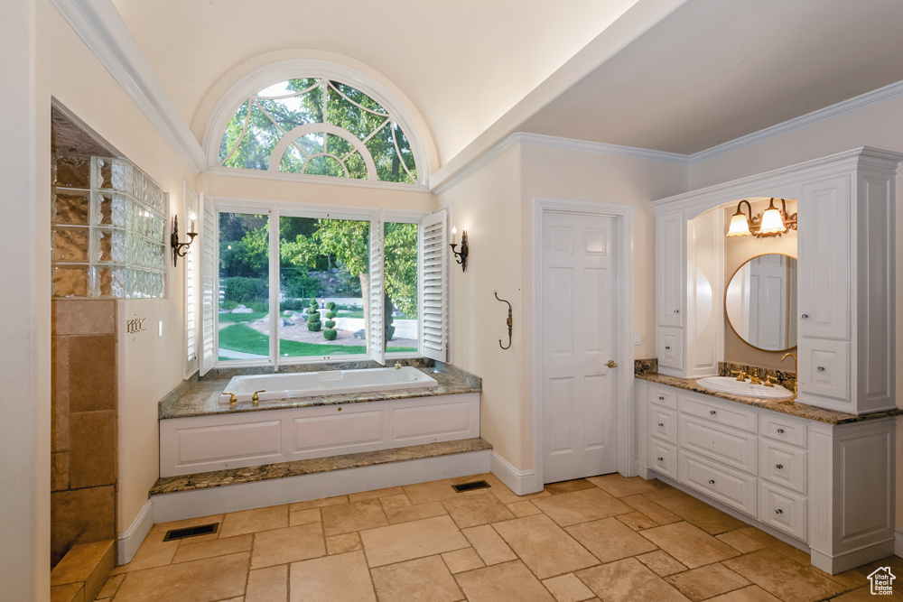
M517 131L692 154L903 80L900 0L690 0Z

